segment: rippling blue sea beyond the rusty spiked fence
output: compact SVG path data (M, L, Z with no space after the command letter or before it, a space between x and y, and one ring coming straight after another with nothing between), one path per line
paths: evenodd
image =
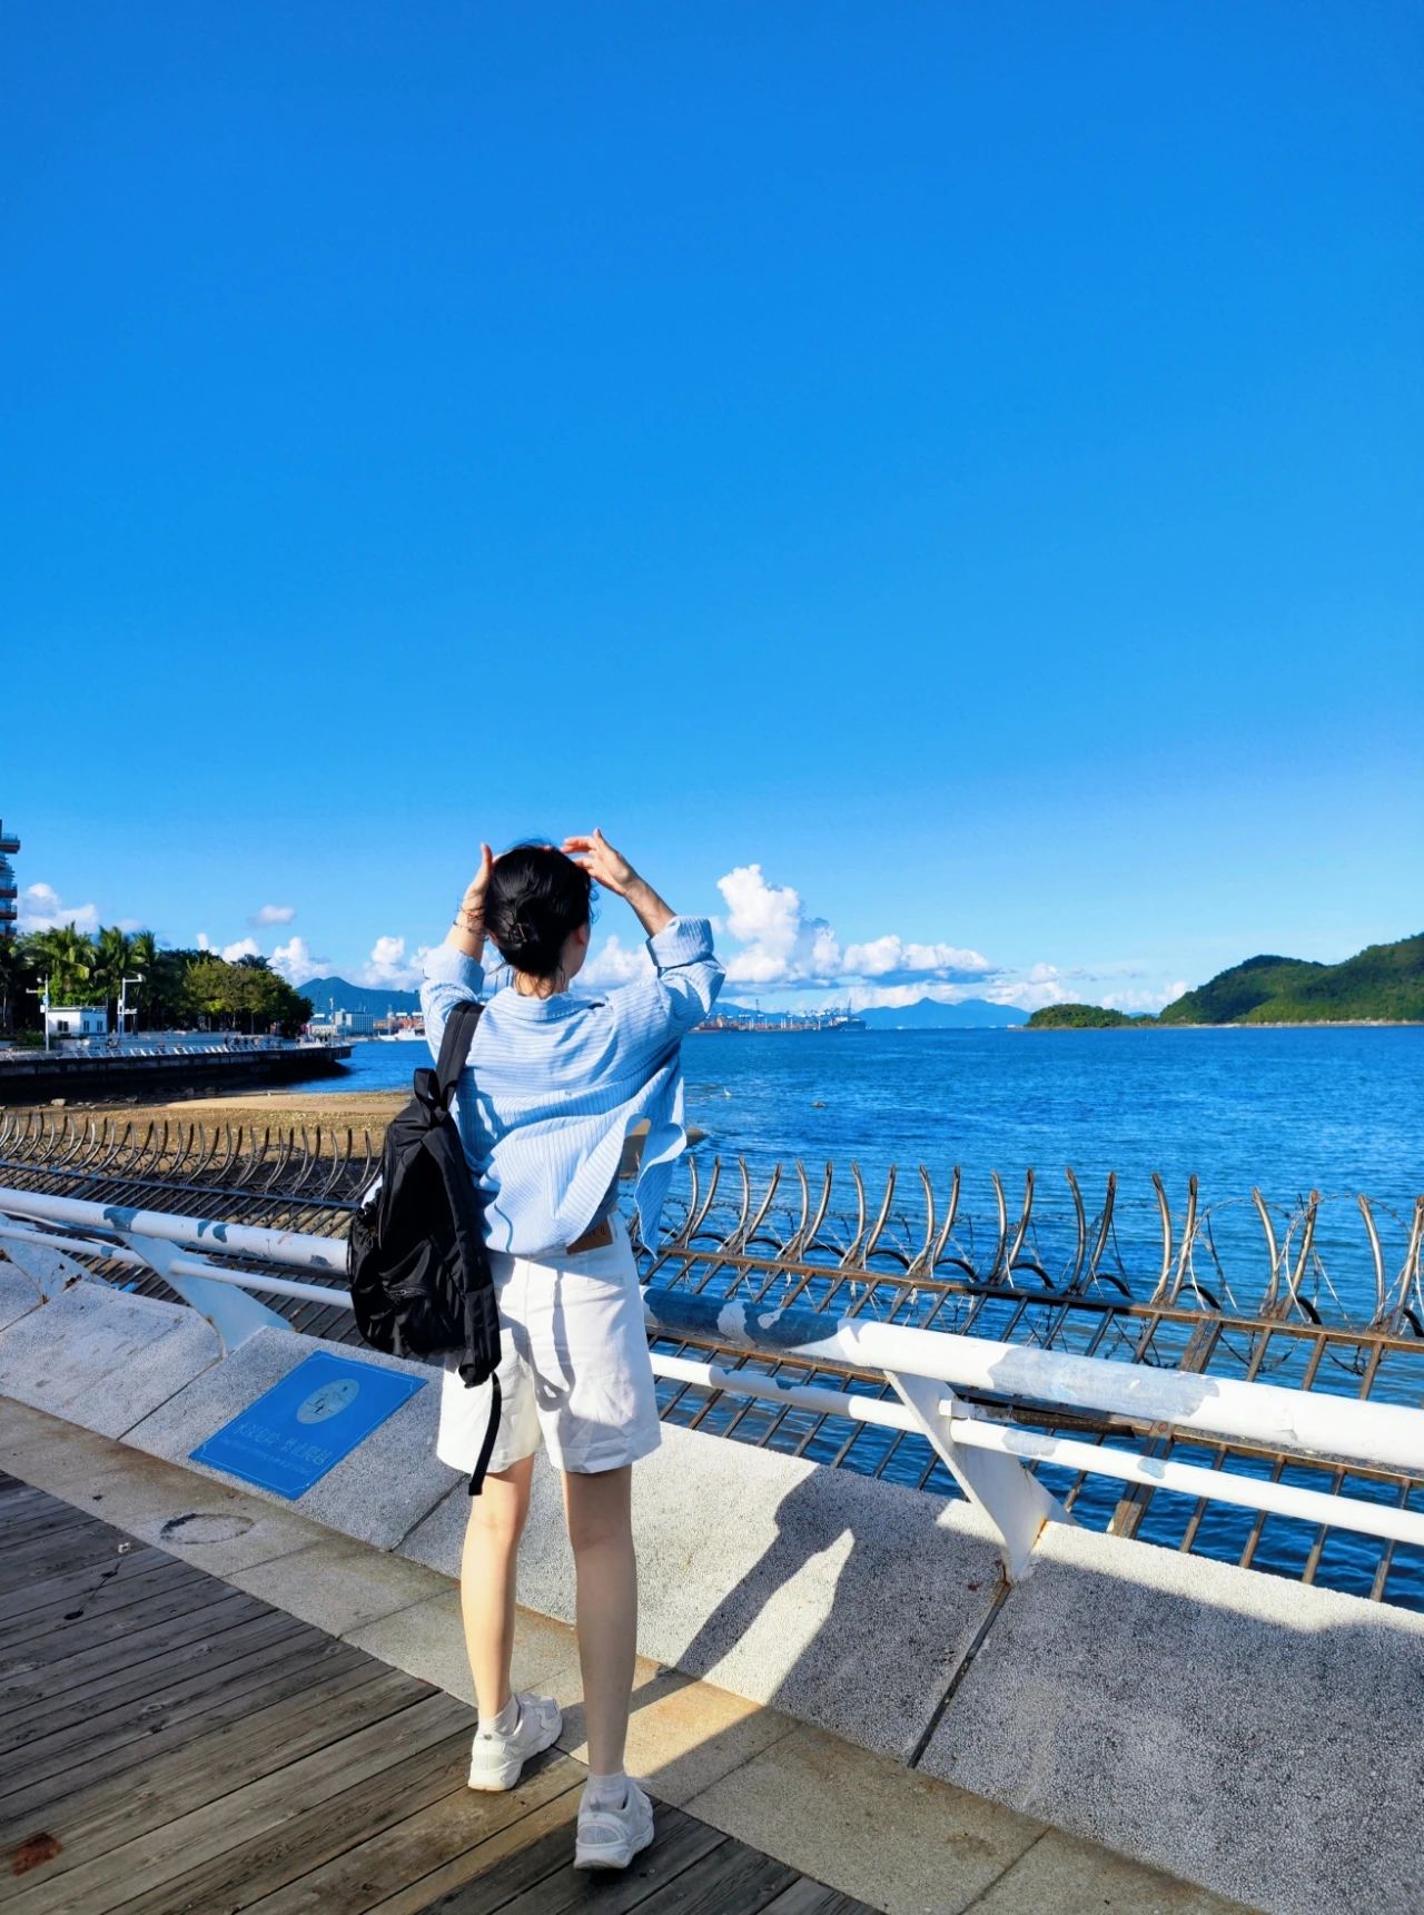
M400 1090L423 1061L417 1044L356 1044L343 1076L310 1090ZM1323 1193L1319 1268L1338 1293L1326 1314L1365 1319L1376 1279L1353 1195L1372 1199L1395 1273L1424 1191L1424 1028L702 1032L683 1046L683 1074L689 1124L706 1134L701 1160L745 1159L754 1185L777 1162L790 1172L802 1160L813 1187L831 1162L833 1208L850 1206L852 1162L875 1206L900 1166L894 1208L909 1237L923 1214L917 1166L940 1201L961 1168L959 1233L978 1245L988 1231L988 1247L991 1172L1016 1212L1034 1170L1047 1270L1072 1250L1064 1168L1089 1214L1116 1172L1116 1254L1145 1291L1162 1241L1152 1172L1177 1218L1194 1174L1219 1260L1213 1281L1242 1308L1269 1279L1252 1189L1282 1241L1302 1201Z

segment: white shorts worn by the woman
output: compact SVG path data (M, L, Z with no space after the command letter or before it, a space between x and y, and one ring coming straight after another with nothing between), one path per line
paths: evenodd
M612 1243L559 1262L490 1252L500 1302L503 1408L490 1469L534 1455L593 1475L649 1455L662 1440L637 1266L622 1218ZM490 1419L490 1385L467 1388L446 1362L434 1453L469 1475Z

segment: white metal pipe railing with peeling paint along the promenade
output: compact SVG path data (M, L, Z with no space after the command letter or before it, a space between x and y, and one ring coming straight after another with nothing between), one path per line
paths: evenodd
M44 1295L84 1273L75 1256L155 1270L212 1321L228 1346L260 1327L291 1327L251 1293L346 1308L345 1291L329 1283L302 1283L243 1268L243 1262L264 1262L293 1272L345 1275L346 1245L333 1237L0 1189L0 1245ZM1411 1476L1424 1476L1424 1409L1066 1356L867 1318L829 1318L806 1308L729 1302L655 1285L645 1289L643 1306L656 1335L729 1344L773 1360L802 1360L819 1369L884 1373L894 1400L821 1383L779 1383L716 1360L653 1352L653 1369L660 1377L926 1436L968 1499L995 1524L1011 1578L1030 1568L1032 1547L1045 1522L1072 1521L1024 1463L1051 1463L1296 1517L1323 1528L1424 1545L1424 1513L1414 1509L1022 1429L963 1402L955 1392L1009 1398L1009 1415L1024 1402L1049 1411L1087 1409L1146 1423L1154 1434L1225 1438L1269 1446L1302 1463L1365 1463Z

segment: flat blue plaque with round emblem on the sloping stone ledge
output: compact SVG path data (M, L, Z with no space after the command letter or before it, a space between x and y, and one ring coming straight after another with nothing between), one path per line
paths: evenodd
M320 1350L201 1442L191 1459L295 1498L423 1388L425 1377Z

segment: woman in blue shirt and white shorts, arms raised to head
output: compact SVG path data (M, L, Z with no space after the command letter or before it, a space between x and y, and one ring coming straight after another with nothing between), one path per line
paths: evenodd
M595 883L635 912L653 973L574 998ZM630 1124L647 1118L635 1195L653 1243L685 1145L679 1044L712 1007L722 965L708 921L676 917L601 831L565 839L563 850L517 845L498 862L482 845L444 944L425 958L421 1005L436 1055L452 1007L484 990L486 936L513 982L486 1005L456 1092L503 1342L503 1415L461 1561L478 1702L469 1785L513 1789L563 1727L551 1697L509 1693L515 1553L544 1442L563 1473L588 1722L574 1865L622 1869L653 1840L653 1806L624 1771L624 1739L637 1630L632 1465L660 1432L618 1166ZM446 1369L436 1453L454 1469L475 1465L488 1398L488 1385L469 1390Z

